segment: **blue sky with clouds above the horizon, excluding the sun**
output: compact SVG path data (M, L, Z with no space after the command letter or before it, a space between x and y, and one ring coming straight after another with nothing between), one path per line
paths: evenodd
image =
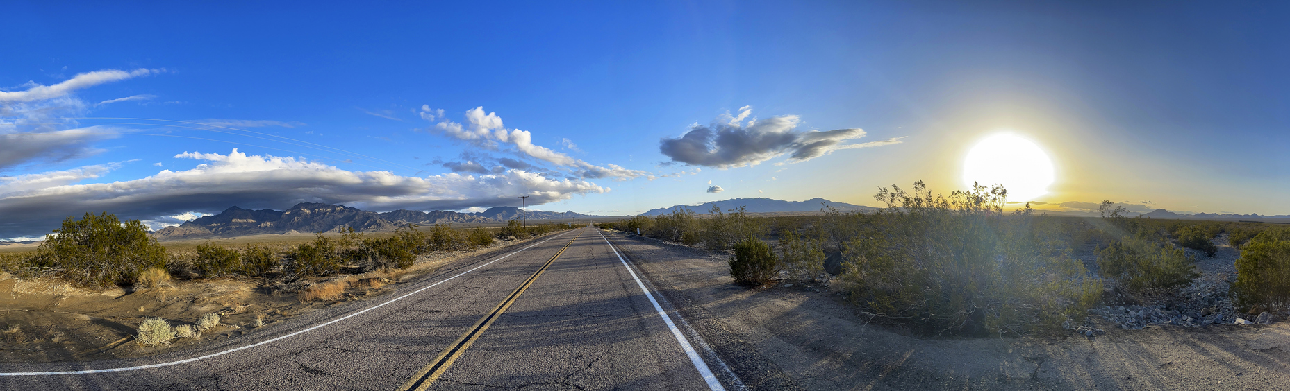
M1051 157L1054 208L1290 214L1281 4L5 8L0 238L302 201L873 205L961 189L1002 130Z

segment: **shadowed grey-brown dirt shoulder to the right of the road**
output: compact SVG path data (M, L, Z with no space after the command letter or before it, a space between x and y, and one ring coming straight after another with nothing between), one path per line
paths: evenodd
M605 233L752 388L1290 388L1290 322L920 338L871 323L827 287L748 289L731 284L725 255Z

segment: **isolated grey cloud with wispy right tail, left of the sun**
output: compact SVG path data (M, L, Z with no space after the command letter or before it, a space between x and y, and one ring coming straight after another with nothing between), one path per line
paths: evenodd
M695 123L680 138L663 139L659 152L675 163L730 168L756 166L784 154L789 162L805 162L840 149L891 145L902 139L845 144L863 138L864 130L799 131L797 116L757 120L748 118L751 114L752 108L746 105L738 116L726 113L707 126Z

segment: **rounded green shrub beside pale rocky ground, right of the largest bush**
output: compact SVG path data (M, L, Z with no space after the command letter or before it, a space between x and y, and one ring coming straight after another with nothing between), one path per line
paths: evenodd
M1125 238L1098 252L1102 275L1135 291L1162 291L1186 286L1198 275L1193 260L1170 244Z

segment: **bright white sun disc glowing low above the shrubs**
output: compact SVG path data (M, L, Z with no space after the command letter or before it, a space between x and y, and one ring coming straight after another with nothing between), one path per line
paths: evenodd
M1033 201L1053 184L1053 161L1033 141L1011 134L977 143L964 161L964 183L1004 184L1007 201Z

